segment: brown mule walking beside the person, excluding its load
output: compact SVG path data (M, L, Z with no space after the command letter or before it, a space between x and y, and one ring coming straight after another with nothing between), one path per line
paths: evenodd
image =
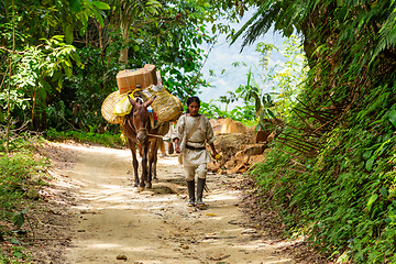
M132 111L127 116L123 128L123 134L128 139L129 147L132 153L132 166L134 173L134 187L139 191L145 187L152 187L152 179L157 179L156 163L160 142L169 130L169 122L162 122L154 125L150 118L147 108L155 98L144 102L142 98L133 100L129 98L132 105ZM142 150L142 175L139 178L139 162L136 158L136 146ZM148 163L148 165L147 165Z

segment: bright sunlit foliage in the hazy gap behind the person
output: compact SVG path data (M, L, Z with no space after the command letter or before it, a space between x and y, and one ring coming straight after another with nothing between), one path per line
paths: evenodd
M286 62L268 69L271 54L274 50L280 52ZM227 96L220 97L219 101L226 103L227 112L229 103L242 99L242 108L235 107L231 113L224 116L238 121L251 120L251 123L256 125L256 130L265 130L268 127L266 120L287 120L290 116L290 109L296 102L298 91L301 89L307 67L301 65L305 62L302 46L295 35L284 42L283 51L279 51L273 44L258 43L256 52L260 55L258 66L262 74L255 77L251 66L246 76L246 85L241 85L235 91L229 91ZM234 65L238 67L241 64L235 63ZM273 91L264 92L268 88Z

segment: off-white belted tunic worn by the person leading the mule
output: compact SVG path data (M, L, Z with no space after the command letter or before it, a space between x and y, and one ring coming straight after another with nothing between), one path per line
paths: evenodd
M195 124L199 121L200 124L186 142L186 144L194 147L206 147L206 143L213 143L216 139L213 129L205 116L201 119L200 116L187 117L186 114L183 114L177 121L172 139L179 139L179 144L182 146L183 139L190 133ZM207 150L197 151L184 147L180 151L183 153L184 166L198 166L200 164L211 162L210 154Z

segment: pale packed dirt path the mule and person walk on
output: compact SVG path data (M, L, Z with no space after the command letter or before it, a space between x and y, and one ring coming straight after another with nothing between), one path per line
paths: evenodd
M63 145L75 164L66 263L295 263L249 227L239 208L241 175L208 175L207 210L188 208L176 156L158 158L160 182L136 193L128 150ZM118 260L123 258L123 260Z

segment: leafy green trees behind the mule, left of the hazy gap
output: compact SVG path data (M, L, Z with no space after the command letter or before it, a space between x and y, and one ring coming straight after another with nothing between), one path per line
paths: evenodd
M182 101L209 86L199 75L205 54L199 45L215 42L213 32L229 26L216 22L220 3L211 1L15 1L15 55L10 110L32 129L117 131L101 117L101 103L117 90L123 68L155 64L165 87ZM13 24L11 1L0 4L0 58L9 62ZM46 41L50 40L50 41ZM128 51L127 64L121 51ZM0 64L7 73L6 63ZM8 80L0 82L4 117ZM6 121L0 117L0 121Z

